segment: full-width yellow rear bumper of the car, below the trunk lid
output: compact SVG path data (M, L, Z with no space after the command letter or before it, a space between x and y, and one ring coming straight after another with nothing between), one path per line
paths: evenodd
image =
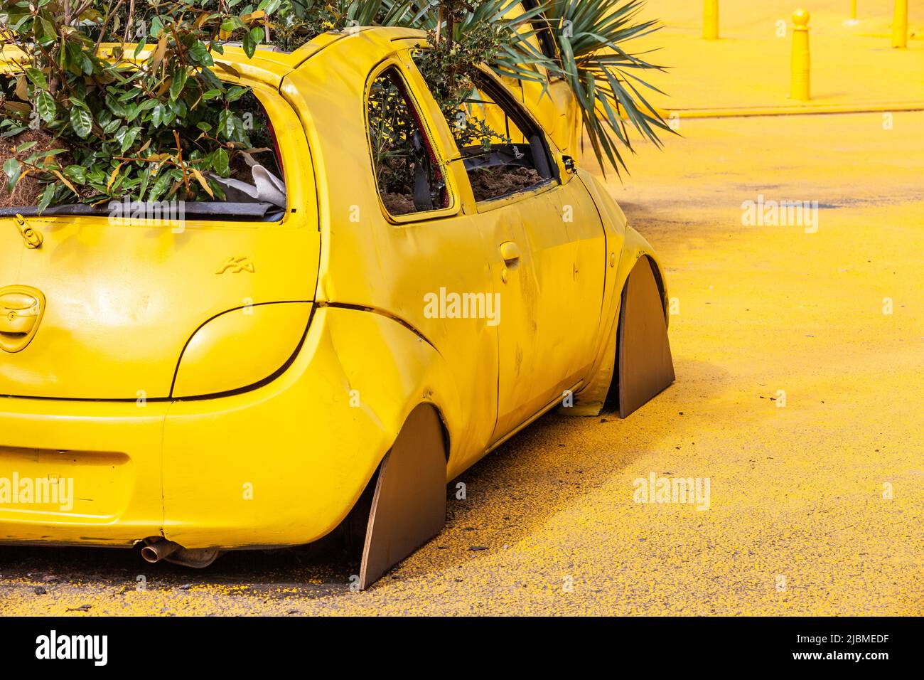
M329 311L316 315L286 373L249 392L147 403L0 399L0 542L130 547L164 536L235 549L331 531L395 432L390 418L356 403ZM350 314L341 333L369 323ZM10 493L24 480L31 498Z

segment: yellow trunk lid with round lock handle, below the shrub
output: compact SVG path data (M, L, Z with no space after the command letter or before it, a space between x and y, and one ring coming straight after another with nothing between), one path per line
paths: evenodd
M38 248L15 216L0 217L0 395L169 397L184 346L213 316L313 299L320 237L313 219L296 217L187 217L171 229L25 216Z

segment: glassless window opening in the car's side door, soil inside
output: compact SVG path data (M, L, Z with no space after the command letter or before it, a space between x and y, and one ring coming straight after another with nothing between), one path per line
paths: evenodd
M529 192L555 179L541 128L511 93L486 73L457 111L445 111L478 202ZM439 100L437 100L439 101Z

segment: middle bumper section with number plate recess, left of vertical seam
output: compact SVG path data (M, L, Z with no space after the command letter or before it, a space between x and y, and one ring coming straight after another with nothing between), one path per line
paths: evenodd
M0 539L130 546L160 535L168 407L0 400Z

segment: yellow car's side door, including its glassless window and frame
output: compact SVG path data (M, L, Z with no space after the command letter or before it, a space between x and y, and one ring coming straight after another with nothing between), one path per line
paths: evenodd
M577 388L589 368L600 324L605 238L590 194L579 179L563 176L527 111L486 73L478 99L480 115L513 142L492 145L492 154L509 152L511 164L529 161L540 176L534 185L494 196L481 186L479 163L467 165L474 217L501 303L497 441Z

